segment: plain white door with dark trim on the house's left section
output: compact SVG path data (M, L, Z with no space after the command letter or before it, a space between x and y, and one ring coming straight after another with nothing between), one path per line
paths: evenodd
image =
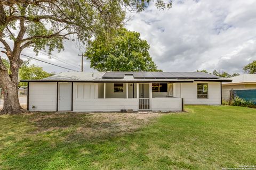
M71 111L72 84L59 82L59 111Z

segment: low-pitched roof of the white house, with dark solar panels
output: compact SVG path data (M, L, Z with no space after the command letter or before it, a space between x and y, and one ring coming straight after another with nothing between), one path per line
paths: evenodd
M193 82L231 81L201 72L64 72L41 80L21 82Z

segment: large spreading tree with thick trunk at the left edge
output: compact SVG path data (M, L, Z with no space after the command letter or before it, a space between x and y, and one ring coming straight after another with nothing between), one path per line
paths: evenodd
M20 54L33 47L35 52L55 48L63 49L63 40L76 35L86 43L91 37L111 31L122 25L125 9L143 10L150 0L1 0L0 42L10 61L10 70L4 66L0 55L0 87L4 91L1 113L26 112L18 99ZM158 8L170 7L162 0Z

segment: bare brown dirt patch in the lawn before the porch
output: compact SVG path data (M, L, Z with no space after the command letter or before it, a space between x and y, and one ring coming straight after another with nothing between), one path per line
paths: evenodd
M71 129L70 139L104 138L133 132L163 113L34 113L36 132Z

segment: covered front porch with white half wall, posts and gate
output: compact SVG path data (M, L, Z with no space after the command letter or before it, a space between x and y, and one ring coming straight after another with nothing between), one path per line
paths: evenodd
M172 83L91 83L90 87L88 83L75 84L75 112L182 111L182 99L173 96ZM90 94L85 94L84 89L91 89Z

